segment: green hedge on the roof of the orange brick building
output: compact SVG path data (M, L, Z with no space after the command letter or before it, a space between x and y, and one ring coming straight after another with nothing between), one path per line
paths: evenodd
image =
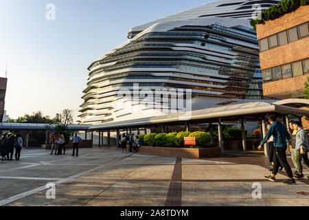
M256 25L282 17L302 5L309 5L309 0L282 0L277 5L271 5L268 9L262 10L260 19L251 19L250 24L256 30Z

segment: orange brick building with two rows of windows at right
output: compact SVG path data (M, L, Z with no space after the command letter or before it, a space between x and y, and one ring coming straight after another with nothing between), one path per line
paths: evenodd
M309 76L309 5L257 25L264 96L302 98Z

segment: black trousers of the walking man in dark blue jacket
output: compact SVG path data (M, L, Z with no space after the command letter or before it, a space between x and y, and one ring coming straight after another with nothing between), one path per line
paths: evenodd
M288 177L293 178L292 169L288 164L288 160L286 159L286 147L274 147L275 157L274 157L274 164L273 164L273 175L276 175L279 170L280 164L286 170L286 174Z

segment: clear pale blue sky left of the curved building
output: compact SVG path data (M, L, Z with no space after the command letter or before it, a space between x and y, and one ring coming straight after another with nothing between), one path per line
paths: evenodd
M78 115L87 67L126 41L130 28L209 0L0 0L0 77L8 63L10 118L62 109ZM46 5L56 6L47 21Z

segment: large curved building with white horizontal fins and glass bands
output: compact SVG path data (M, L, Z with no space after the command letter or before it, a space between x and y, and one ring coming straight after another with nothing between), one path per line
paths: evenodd
M268 8L277 2L214 1L132 28L128 41L89 66L80 121L101 124L158 115L163 112L150 111L139 100L170 109L169 98L185 100L186 91L192 109L264 98L258 41L249 19L255 4ZM184 92L162 94L167 101L158 103L156 95L134 96L136 89L148 94L156 89ZM122 92L119 96L122 90L130 98ZM142 107L132 111L126 104Z

